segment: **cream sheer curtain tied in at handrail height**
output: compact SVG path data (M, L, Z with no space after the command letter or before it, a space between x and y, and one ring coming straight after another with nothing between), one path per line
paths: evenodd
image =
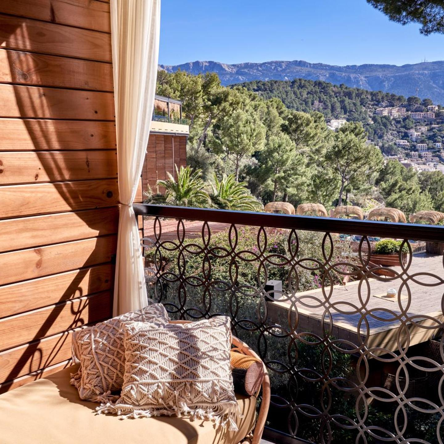
M113 315L147 305L139 229L132 208L153 114L160 0L111 0L120 217Z

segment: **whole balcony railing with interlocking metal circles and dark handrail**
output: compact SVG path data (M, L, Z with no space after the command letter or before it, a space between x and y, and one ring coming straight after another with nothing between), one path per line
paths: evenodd
M150 297L171 317L230 316L269 369L278 442L443 442L444 227L134 208ZM399 251L381 259L370 236Z

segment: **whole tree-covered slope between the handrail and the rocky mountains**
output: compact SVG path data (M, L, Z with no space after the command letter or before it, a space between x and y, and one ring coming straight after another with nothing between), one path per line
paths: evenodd
M187 164L193 171L183 172L180 190L174 178L163 184L170 202L189 204L196 197L194 205L202 206L197 199L202 197L202 202L211 198L218 207L235 209L227 193L240 183L262 204L387 204L407 214L444 210L444 174L418 174L398 161L385 163L375 146L377 131L392 138L393 126L396 133L396 125L412 120L375 116L376 107L405 103L411 110L424 109L431 104L427 99L307 80L224 87L214 73L184 71L159 71L157 93L182 100L190 120ZM349 122L331 131L326 120L332 117ZM374 144L368 143L371 135ZM194 182L199 185L191 186ZM211 189L205 196L199 194L204 188Z

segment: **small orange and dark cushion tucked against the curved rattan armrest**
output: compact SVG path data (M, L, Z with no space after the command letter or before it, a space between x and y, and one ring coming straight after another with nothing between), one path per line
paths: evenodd
M235 351L230 352L234 391L241 395L256 395L264 379L262 361Z

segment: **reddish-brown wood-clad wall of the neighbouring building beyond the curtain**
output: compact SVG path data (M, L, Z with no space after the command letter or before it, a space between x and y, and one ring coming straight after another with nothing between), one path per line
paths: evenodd
M167 179L167 172L176 177L174 164L178 168L186 166L186 139L185 135L154 133L150 135L142 170L143 191L147 191L150 186L151 190L156 192L156 182L159 179ZM159 192L163 192L162 188L159 189Z

